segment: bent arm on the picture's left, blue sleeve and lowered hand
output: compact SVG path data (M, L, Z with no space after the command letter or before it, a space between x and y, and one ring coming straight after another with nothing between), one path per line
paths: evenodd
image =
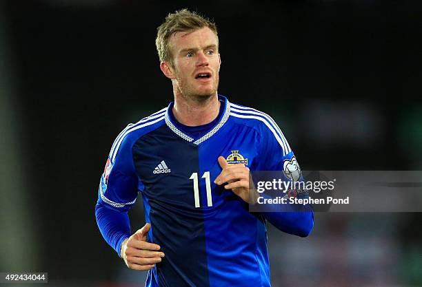
M125 264L132 269L148 270L160 262L164 254L157 252L157 244L147 242L150 224L133 235L130 231L128 211L137 198L139 178L134 170L130 143L124 139L118 149L110 152L101 176L95 217L104 240Z

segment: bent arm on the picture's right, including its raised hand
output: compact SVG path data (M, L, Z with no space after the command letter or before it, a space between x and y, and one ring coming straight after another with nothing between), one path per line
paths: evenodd
M272 120L272 119L271 119ZM279 127L272 121L273 129L268 125L261 125L259 128L259 166L261 171L283 171L293 181L303 180L301 169L297 163L294 153ZM215 179L218 185L225 185L225 189L232 190L248 204L256 204L257 191L250 191L250 173L244 164L228 164L225 158L219 157L221 173ZM264 196L265 195L261 195ZM299 196L308 196L303 194ZM262 212L272 225L285 233L308 236L314 226L314 212L310 204L267 204L268 212Z

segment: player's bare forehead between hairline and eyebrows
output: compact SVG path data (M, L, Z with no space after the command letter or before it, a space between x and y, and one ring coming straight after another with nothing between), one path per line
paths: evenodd
M170 47L177 53L183 49L201 49L210 45L218 45L217 35L208 27L188 32L176 32L170 37Z

